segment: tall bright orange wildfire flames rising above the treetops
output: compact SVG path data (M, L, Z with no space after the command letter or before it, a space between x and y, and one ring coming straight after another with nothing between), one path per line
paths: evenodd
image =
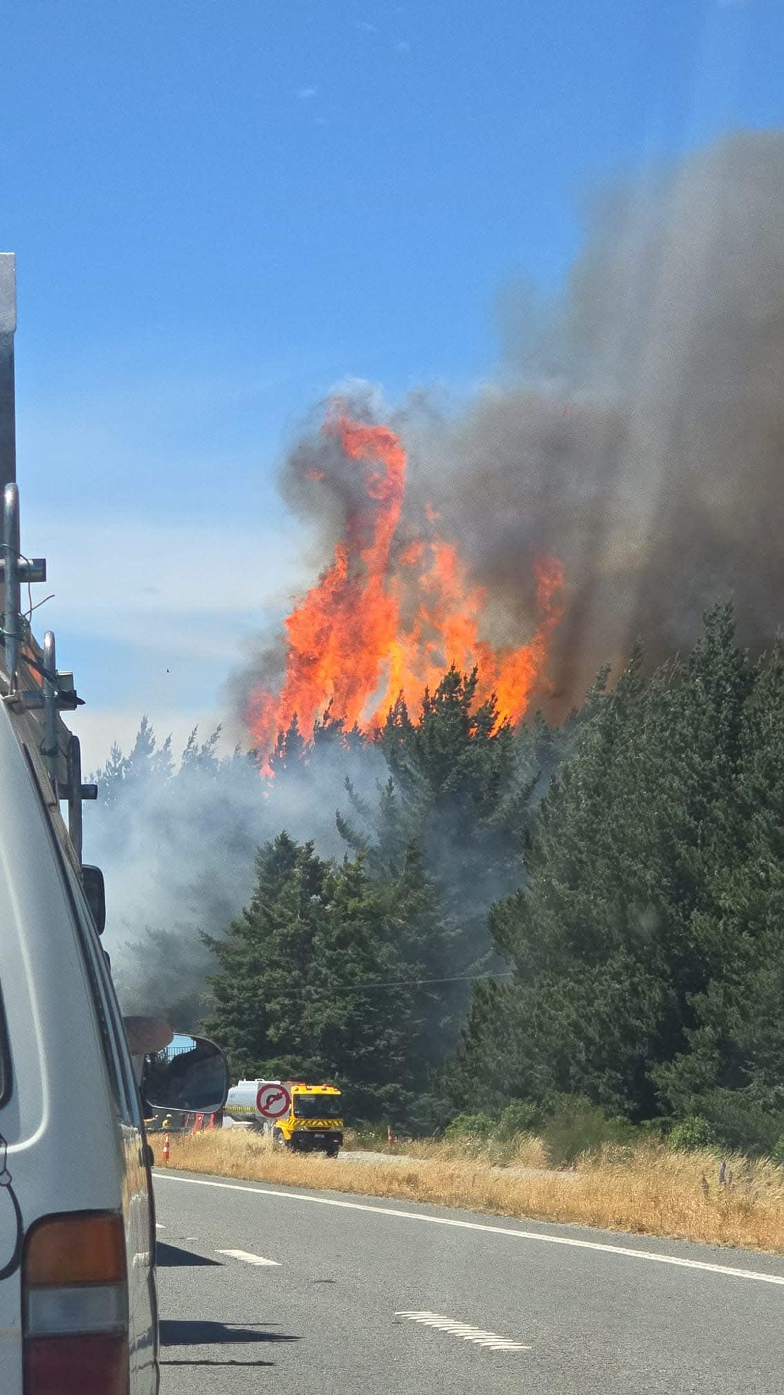
M472 586L458 547L444 540L432 508L412 536L402 529L406 452L385 425L328 416L322 431L354 467L359 492L347 509L332 564L286 618L286 672L279 693L251 693L246 720L268 753L297 717L304 735L329 707L347 728L378 727L402 695L414 707L452 664L477 668L477 700L495 693L499 717L518 721L541 681L547 643L562 614L562 566L536 565L538 625L520 647L480 638L485 594ZM304 470L315 483L325 472ZM405 533L405 536L402 536Z

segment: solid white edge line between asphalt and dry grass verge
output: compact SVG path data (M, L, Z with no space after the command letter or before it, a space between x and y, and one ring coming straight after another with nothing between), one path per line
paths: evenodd
M184 1182L193 1187L222 1187L226 1191L250 1191L259 1197L276 1197L280 1201L310 1201L319 1207L340 1207L346 1211L370 1211L379 1216L398 1216L400 1221L423 1221L427 1225L449 1225L458 1230L485 1230L490 1235L511 1235L516 1240L540 1240L543 1244L568 1244L576 1250L601 1250L604 1254L622 1254L629 1260L651 1260L654 1264L675 1264L684 1269L706 1269L709 1274L724 1274L732 1279L757 1279L759 1283L784 1285L784 1274L763 1274L757 1269L732 1269L725 1264L709 1264L706 1260L682 1260L677 1254L654 1254L651 1250L629 1250L622 1244L603 1244L600 1240L576 1240L566 1235L541 1235L537 1230L512 1230L501 1225L480 1225L478 1221L455 1221L452 1216L428 1216L419 1211L393 1211L391 1207L370 1207L364 1201L338 1201L333 1197L314 1197L304 1191L276 1191L272 1187L247 1187L239 1182L208 1182L204 1177L179 1177L173 1172L153 1172L155 1179Z

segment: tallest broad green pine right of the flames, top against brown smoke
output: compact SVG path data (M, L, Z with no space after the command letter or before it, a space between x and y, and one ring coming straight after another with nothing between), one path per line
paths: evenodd
M491 912L513 981L474 992L458 1098L490 1074L499 1098L583 1094L638 1119L693 1103L693 1048L707 1039L695 1034L707 1032L707 1004L718 1020L730 1009L753 685L720 607L684 664L644 682L635 651L617 686L591 696L543 802L529 882ZM767 1002L773 1011L770 982Z

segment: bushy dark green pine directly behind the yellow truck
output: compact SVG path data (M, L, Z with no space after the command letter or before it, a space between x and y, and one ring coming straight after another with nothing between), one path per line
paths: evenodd
M353 1117L421 1117L442 1055L439 933L414 848L379 879L361 855L335 865L280 834L258 855L248 908L209 939L205 1030L234 1073L333 1080Z

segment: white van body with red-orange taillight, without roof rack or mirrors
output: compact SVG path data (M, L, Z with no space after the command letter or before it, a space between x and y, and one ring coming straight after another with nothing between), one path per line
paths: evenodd
M123 1021L0 704L0 1391L155 1395L149 1155Z

